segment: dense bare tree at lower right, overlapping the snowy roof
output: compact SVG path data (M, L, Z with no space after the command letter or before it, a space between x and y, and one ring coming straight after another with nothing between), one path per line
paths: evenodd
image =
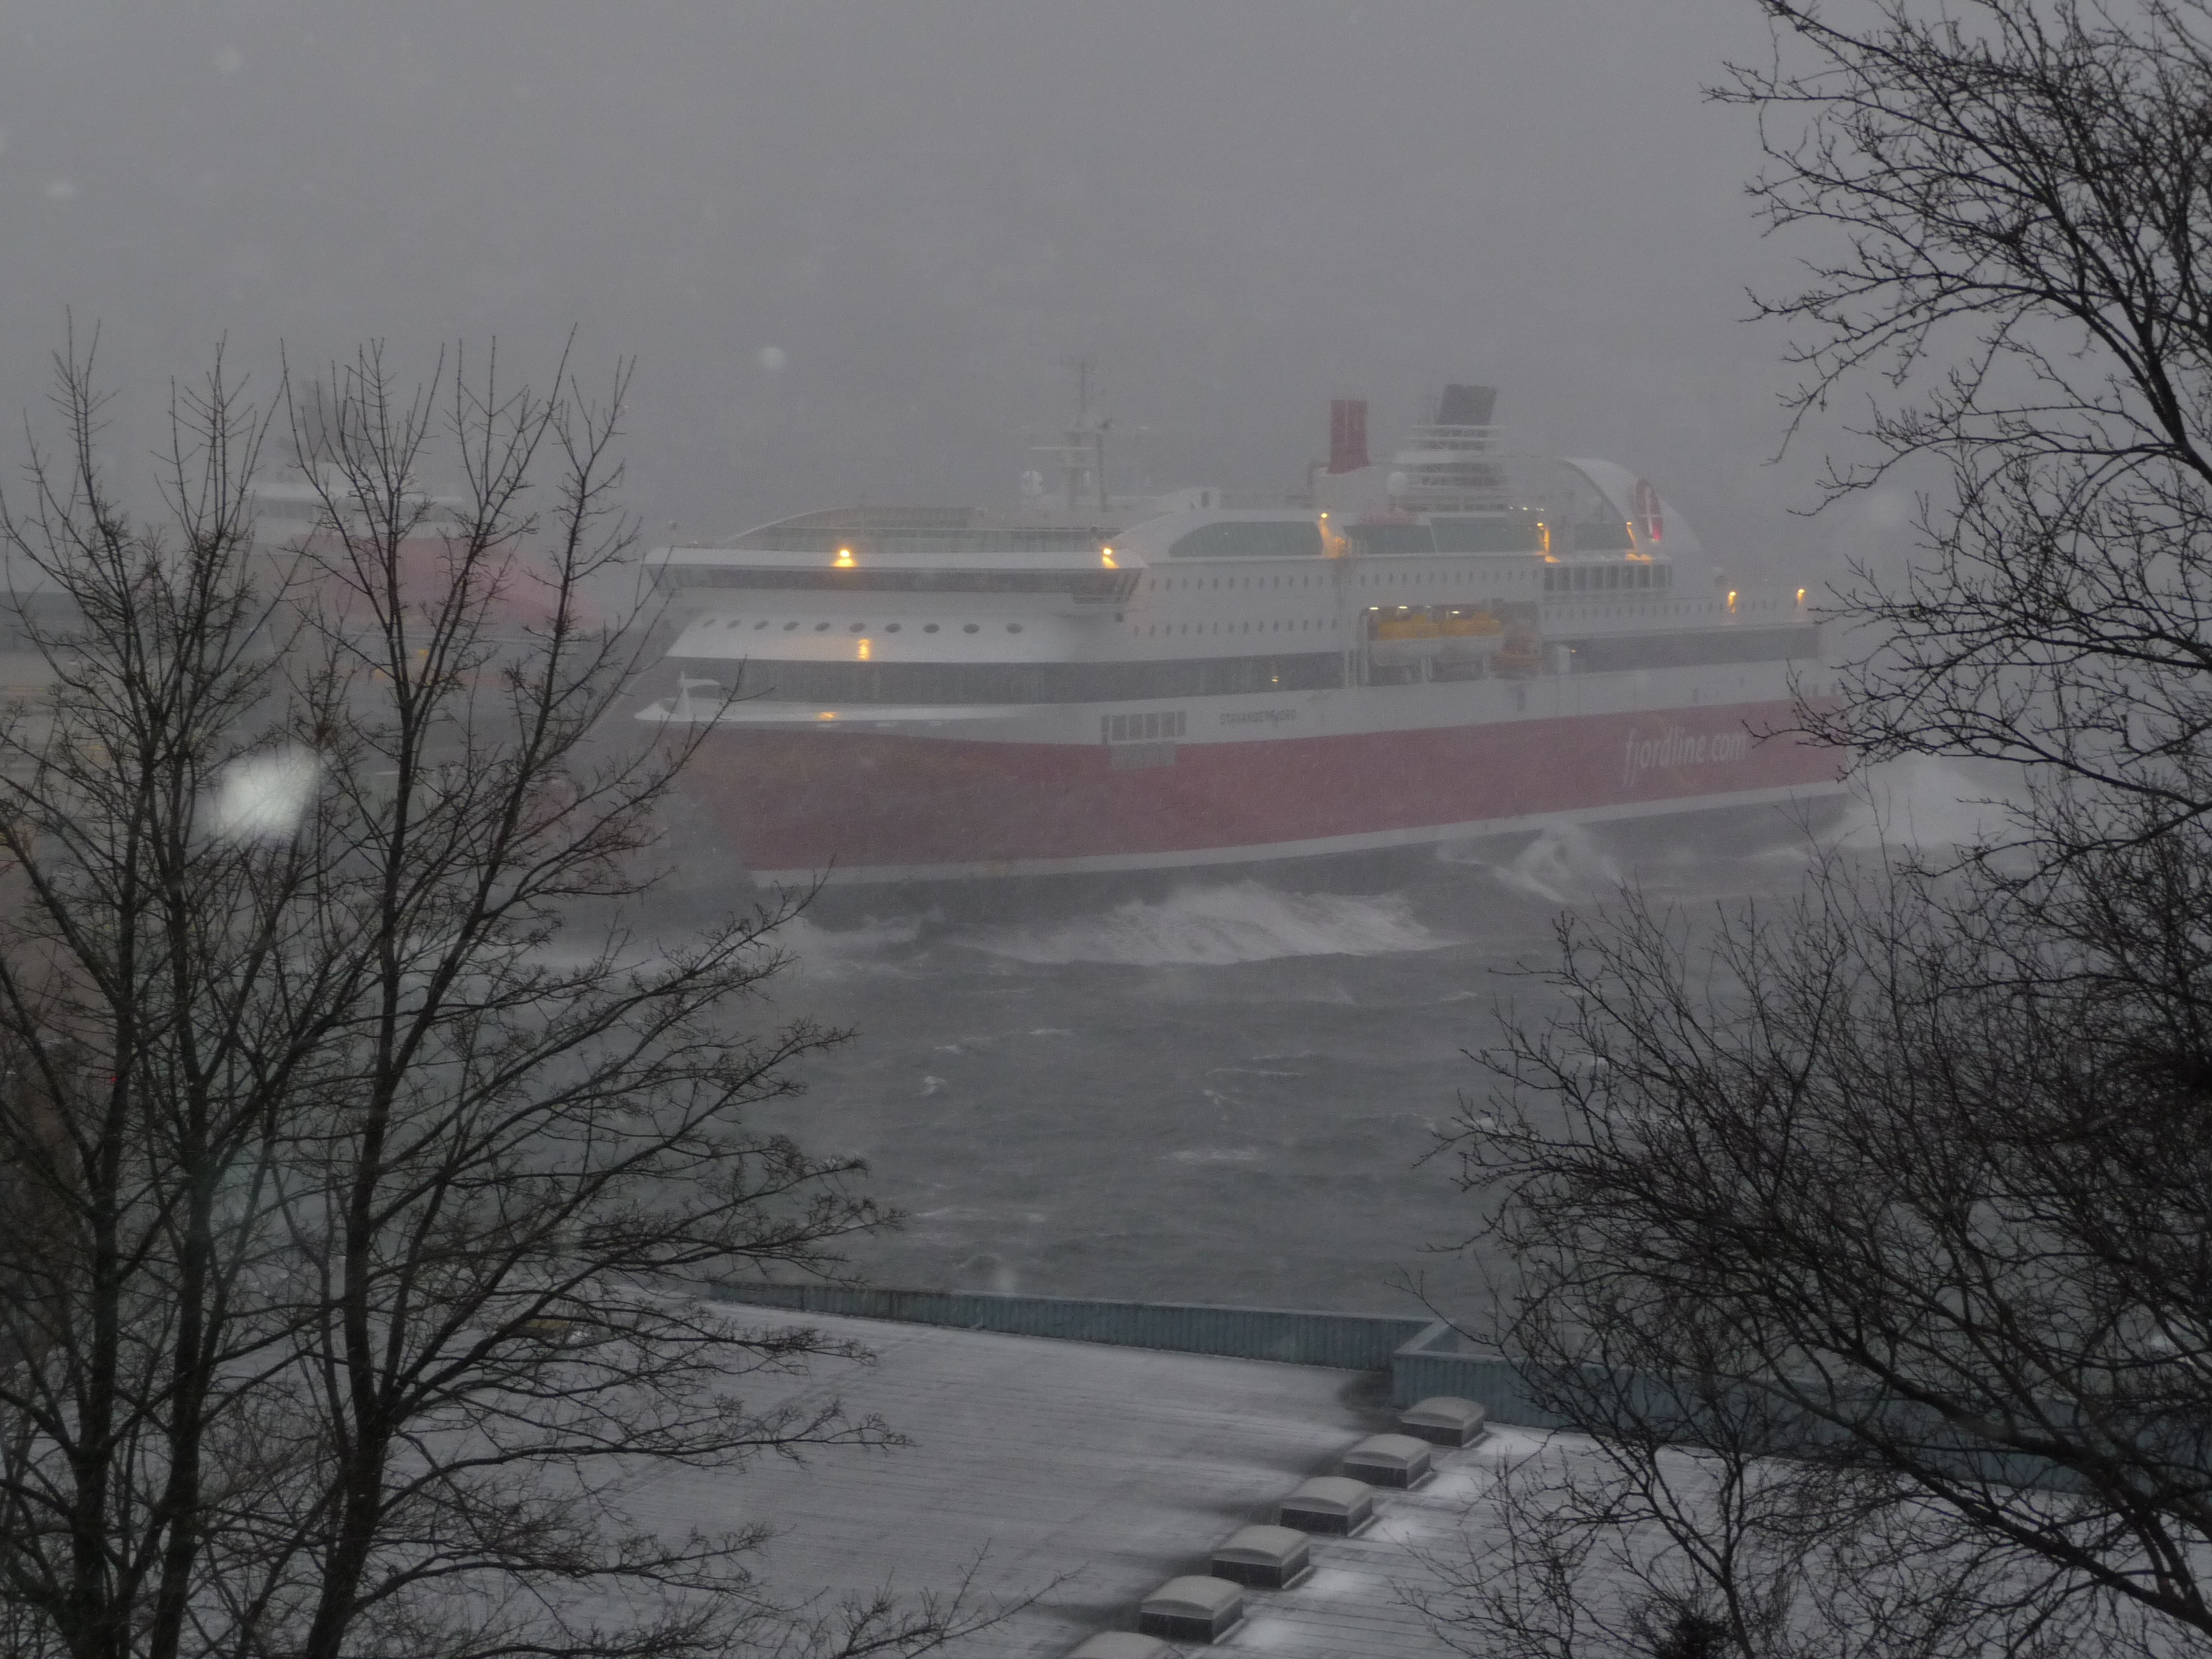
M2212 1641L2208 900L2166 827L1566 925L1568 1013L1460 1139L1520 1272L1489 1334L1597 1444L1513 1548L1747 1655ZM1484 1582L1460 1621L1544 1628Z

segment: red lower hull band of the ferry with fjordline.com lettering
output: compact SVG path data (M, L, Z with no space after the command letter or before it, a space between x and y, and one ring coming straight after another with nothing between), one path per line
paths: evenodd
M723 728L690 787L776 878L1139 869L1834 785L1834 750L1752 737L1787 721L1787 703L1736 703L1186 743L1135 770L1104 745Z

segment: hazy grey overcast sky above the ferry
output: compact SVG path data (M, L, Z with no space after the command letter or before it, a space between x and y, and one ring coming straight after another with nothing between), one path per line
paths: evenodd
M1787 281L1750 0L0 0L0 409L380 334L635 354L633 504L1002 504L1097 365L1152 487L1292 489L1444 380L1745 564ZM779 367L768 367L781 363ZM142 436L131 425L131 440Z

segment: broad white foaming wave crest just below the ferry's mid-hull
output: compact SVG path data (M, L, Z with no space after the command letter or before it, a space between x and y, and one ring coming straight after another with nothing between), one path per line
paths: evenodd
M1285 956L1389 956L1455 940L1431 933L1396 896L1281 894L1259 883L1190 887L1064 922L987 927L967 945L1015 962L1228 967Z

